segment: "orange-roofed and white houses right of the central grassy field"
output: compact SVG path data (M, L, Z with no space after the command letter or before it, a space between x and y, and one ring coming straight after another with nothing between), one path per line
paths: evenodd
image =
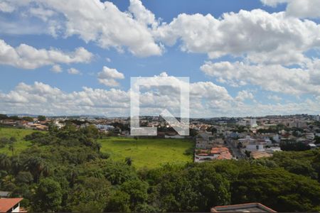
M309 148L320 147L319 116L266 116L238 119L232 125L193 122L196 136L195 162L231 158L263 158L282 151L281 143L302 143ZM279 130L279 126L283 129ZM241 127L242 126L242 127ZM241 129L238 132L235 129ZM215 132L208 131L215 129Z

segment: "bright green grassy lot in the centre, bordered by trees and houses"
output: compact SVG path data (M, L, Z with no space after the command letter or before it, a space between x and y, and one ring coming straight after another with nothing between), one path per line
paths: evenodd
M193 142L186 139L159 138L117 138L101 139L101 151L110 153L113 160L132 158L136 168L156 168L166 163L192 162L192 155L183 153L193 147ZM137 146L138 143L138 146Z

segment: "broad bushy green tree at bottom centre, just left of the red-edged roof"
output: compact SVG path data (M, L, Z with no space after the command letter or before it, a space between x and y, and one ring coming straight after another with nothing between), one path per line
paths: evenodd
M215 171L213 163L192 163L186 167L166 165L147 175L151 203L161 212L206 212L230 202L230 182Z

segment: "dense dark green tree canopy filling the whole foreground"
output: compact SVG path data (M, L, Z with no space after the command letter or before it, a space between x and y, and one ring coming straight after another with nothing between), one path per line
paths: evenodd
M101 153L97 138L94 126L73 124L26 136L33 146L0 154L0 190L24 197L34 212L208 212L243 202L320 210L319 150L136 170L130 158Z

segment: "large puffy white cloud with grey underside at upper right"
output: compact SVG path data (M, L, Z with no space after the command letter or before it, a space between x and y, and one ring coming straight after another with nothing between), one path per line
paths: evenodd
M181 40L181 50L188 53L243 56L265 64L302 63L304 51L320 47L320 25L261 9L223 13L221 18L182 13L154 35L166 45Z

